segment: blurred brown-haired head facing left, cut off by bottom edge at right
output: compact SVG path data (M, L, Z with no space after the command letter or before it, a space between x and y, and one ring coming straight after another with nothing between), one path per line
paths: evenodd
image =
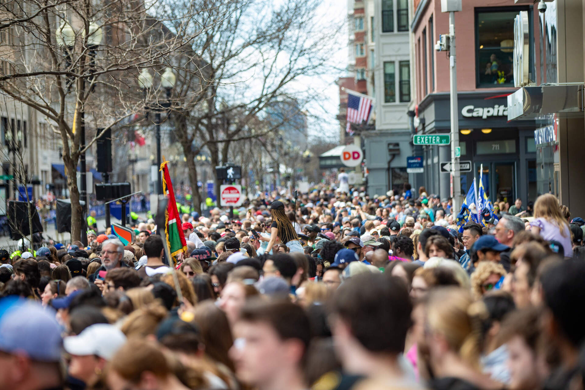
M545 379L538 367L541 316L541 309L521 309L511 312L501 323L500 340L508 348L511 389L536 389Z

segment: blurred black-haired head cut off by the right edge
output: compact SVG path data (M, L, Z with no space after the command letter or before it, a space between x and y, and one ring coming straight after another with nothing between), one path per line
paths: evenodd
M535 207L536 208L536 207ZM544 329L550 339L576 351L585 340L585 312L580 310L585 296L585 262L565 260L553 265L541 277L545 307ZM571 363L569 363L571 364Z

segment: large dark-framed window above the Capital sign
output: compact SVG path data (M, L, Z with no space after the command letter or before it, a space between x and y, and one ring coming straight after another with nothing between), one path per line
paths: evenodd
M514 18L518 11L477 12L477 84L514 87Z

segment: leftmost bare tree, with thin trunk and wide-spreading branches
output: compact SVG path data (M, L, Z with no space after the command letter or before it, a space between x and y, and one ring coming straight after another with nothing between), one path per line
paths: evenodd
M80 157L106 130L118 129L145 105L159 102L161 88L147 94L137 88L140 71L156 75L172 67L183 77L199 74L180 67L190 63L192 45L209 28L205 20L192 22L197 6L177 7L163 19L135 0L8 0L0 5L0 36L8 37L0 60L9 64L0 70L0 94L35 109L61 138L72 240L81 239L85 225L77 188ZM177 111L180 103L173 102Z

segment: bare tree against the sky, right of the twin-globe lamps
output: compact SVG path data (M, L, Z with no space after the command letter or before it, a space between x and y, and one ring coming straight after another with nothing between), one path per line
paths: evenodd
M233 146L269 136L290 117L267 120L281 99L295 99L303 109L315 98L306 77L331 70L328 60L338 47L337 28L317 16L318 0L178 0L161 5L161 15L178 20L184 6L201 12L190 28L209 26L195 39L200 74L178 82L177 99L184 111L174 115L174 129L190 171L195 209L197 188L194 157L207 149L215 167L235 158ZM339 25L341 26L341 24ZM197 91L195 99L190 98ZM259 149L256 153L261 153ZM219 182L216 182L219 191Z

